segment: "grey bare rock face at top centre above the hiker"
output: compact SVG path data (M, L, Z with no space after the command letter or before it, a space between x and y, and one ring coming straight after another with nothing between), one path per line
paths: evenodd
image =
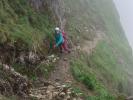
M58 26L64 29L66 19L63 0L29 0L29 2L38 11L42 11L46 7L50 8L57 17Z

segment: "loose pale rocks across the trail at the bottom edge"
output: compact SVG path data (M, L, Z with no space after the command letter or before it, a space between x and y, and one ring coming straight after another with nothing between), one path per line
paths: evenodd
M83 100L82 93L74 93L70 86L65 84L44 82L44 86L30 90L30 98L36 100Z

